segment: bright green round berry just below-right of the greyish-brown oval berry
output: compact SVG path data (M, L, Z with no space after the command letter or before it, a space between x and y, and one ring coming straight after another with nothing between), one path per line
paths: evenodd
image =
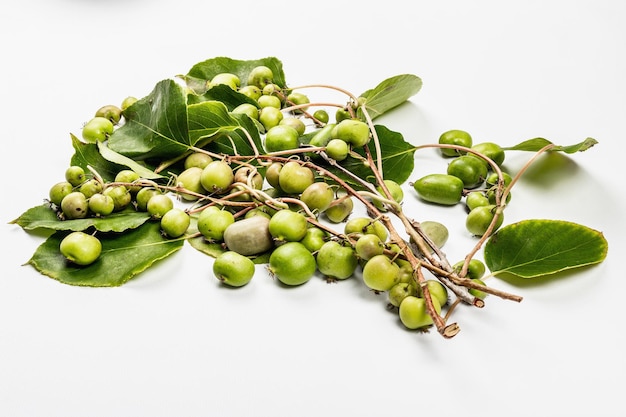
M300 242L278 246L269 258L269 272L285 285L302 285L317 270L315 257Z

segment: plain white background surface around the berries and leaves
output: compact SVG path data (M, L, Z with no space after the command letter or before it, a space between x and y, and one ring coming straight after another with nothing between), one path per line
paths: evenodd
M2 3L0 415L621 415L625 19L619 0ZM227 290L190 246L113 289L23 266L42 239L8 223L62 178L70 132L215 56L275 56L292 86L355 94L416 74L422 91L379 120L415 144L453 128L502 145L596 138L544 158L505 221L585 224L607 237L606 261L489 281L524 300L458 309L450 340L404 330L356 279L284 289L260 267ZM413 180L445 169L434 152L415 159ZM446 253L461 259L472 244L462 207L406 194L415 218L446 222Z

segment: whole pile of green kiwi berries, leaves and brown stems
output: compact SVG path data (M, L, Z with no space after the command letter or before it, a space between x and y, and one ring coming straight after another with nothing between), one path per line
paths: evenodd
M115 287L187 242L214 258L223 285L248 284L256 264L287 286L314 276L358 279L407 328L452 337L459 303L521 300L487 278L537 278L604 260L601 232L561 219L507 224L504 215L537 157L584 151L594 139L506 147L449 130L437 143L411 144L374 123L421 85L401 74L360 95L295 87L274 57L217 57L158 82L143 98L104 105L80 137L71 135L65 178L13 221L48 231L28 264L65 284ZM312 89L345 100L312 102ZM447 170L411 179L415 152L428 148L438 148ZM503 170L509 151L531 155L515 175ZM475 244L464 259L446 258L444 224L403 211L409 180L424 204L465 205Z

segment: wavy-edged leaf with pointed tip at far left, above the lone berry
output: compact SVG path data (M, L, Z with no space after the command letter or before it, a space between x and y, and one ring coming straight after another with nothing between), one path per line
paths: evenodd
M130 208L106 217L59 220L56 212L50 208L49 204L42 204L28 209L11 223L17 224L25 230L82 231L94 228L100 232L123 232L128 229L135 229L149 219L150 215L148 213L138 212Z

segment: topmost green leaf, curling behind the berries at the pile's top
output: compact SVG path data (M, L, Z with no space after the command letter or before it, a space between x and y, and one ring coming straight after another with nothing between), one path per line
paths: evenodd
M286 87L285 73L282 62L274 57L254 60L239 60L228 57L216 57L195 64L183 78L196 92L204 93L201 86L206 86L207 81L220 73L228 72L235 74L241 80L241 85L247 85L248 74L254 67L265 65L274 73L274 84Z

